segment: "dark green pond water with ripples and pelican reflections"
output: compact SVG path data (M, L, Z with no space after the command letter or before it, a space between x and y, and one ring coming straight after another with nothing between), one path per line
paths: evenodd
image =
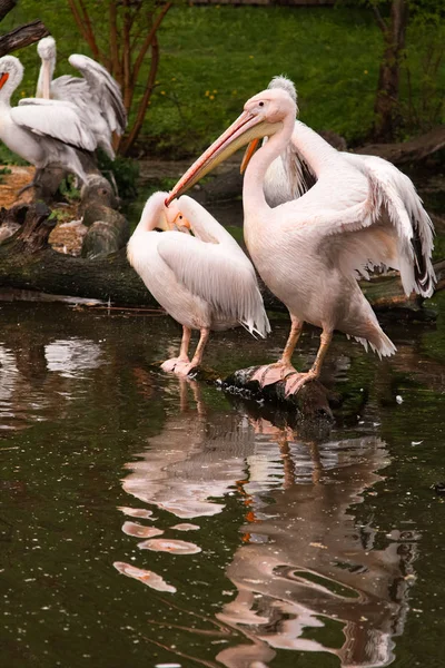
M316 439L152 371L167 317L0 317L2 666L443 666L443 318L386 324L384 362L336 337L324 380L363 401ZM286 330L215 335L207 364L273 360Z

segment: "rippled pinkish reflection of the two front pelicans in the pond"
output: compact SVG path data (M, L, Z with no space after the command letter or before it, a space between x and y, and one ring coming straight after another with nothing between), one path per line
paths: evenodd
M189 386L196 407L187 399ZM215 636L224 631L230 639L215 657L218 665L268 666L281 649L327 651L344 667L392 662L394 638L402 633L408 610L416 537L393 530L385 547L377 547L377 529L370 520L358 520L354 510L365 490L383 480L377 472L388 464L385 443L365 435L317 444L301 440L295 430L254 419L247 409L210 413L195 383L181 380L179 392L180 412L167 416L139 461L127 464L123 489L144 507L121 510L141 520L132 530L138 538L149 529L146 503L169 512L171 522L162 515L162 527L149 517L150 528L162 532L162 538L146 541L149 549L190 553L206 549L200 520L212 515L218 522L217 515L229 512L228 494L240 494L246 524L226 568L236 593L214 619ZM190 532L182 536L195 550L175 548L171 529L178 518L192 520L184 525ZM177 571L169 573L172 581L165 574L159 586L159 576L146 570L150 552L142 553L138 567L115 566L162 591L194 587L178 579ZM176 599L169 600L177 607ZM168 601L162 599L162 605Z

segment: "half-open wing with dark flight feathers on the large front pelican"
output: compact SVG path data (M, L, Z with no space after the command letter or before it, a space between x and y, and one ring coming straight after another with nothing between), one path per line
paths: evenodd
M433 224L413 183L382 158L353 154L342 154L342 158L343 178L353 178L358 169L367 178L368 193L343 210L325 206L310 220L306 218L319 236L320 249L356 277L368 278L374 267L398 269L406 294L415 291L429 297L435 285Z

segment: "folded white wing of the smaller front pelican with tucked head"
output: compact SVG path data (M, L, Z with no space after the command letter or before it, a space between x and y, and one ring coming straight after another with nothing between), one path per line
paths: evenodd
M265 336L269 322L254 267L224 244L206 243L182 233L162 235L158 253L176 278L225 318Z

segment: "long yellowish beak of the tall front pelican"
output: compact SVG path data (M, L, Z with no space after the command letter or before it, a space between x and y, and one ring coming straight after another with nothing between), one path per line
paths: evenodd
M274 135L283 127L281 122L271 124L261 116L243 111L231 126L189 167L178 180L166 199L166 206L191 188L200 178L215 169L236 150L256 138Z

